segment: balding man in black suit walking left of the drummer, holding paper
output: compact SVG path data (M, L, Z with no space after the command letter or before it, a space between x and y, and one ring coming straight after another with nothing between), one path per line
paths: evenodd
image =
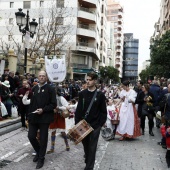
M54 109L56 108L55 89L47 84L47 73L38 73L38 85L32 89L33 96L29 107L29 131L28 139L37 155L33 162L37 162L36 169L44 165L45 153L48 142L48 128L54 121ZM40 130L40 141L36 139L37 131Z

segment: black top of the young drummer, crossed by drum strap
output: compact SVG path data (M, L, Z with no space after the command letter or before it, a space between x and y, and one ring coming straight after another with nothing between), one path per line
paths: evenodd
M95 91L85 89L79 93L79 101L75 112L75 124L81 121L90 105ZM106 98L101 91L97 92L96 99L85 119L94 129L103 126L107 119Z

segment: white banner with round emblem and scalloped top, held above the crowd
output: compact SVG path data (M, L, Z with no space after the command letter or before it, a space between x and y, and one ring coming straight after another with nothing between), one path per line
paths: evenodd
M66 77L65 55L62 55L61 58L54 56L53 59L45 56L45 68L51 82L62 82Z

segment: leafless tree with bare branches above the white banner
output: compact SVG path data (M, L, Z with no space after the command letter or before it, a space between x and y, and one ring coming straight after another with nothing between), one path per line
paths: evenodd
M60 3L60 1L58 2ZM68 10L67 7L56 4L56 1L51 2L49 6L47 16L45 16L47 18L41 21L44 23L39 23L36 38L30 43L28 49L30 56L33 52L37 56L56 54L66 47L70 40L72 8ZM40 16L43 16L41 11ZM68 20L68 18L70 19ZM64 20L67 20L66 24L64 24Z

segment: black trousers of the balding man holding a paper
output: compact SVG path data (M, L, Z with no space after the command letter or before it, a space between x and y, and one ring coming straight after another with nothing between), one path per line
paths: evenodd
M48 143L49 123L31 124L29 123L28 139L37 152L39 159L44 159ZM40 130L40 143L36 139L37 131Z

